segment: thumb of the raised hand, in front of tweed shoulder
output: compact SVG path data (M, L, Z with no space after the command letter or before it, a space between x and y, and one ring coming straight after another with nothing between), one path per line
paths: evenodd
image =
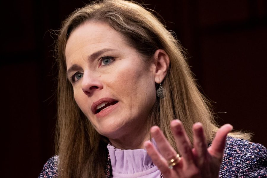
M212 145L208 148L211 155L222 158L227 134L233 130L230 124L223 125L216 133Z

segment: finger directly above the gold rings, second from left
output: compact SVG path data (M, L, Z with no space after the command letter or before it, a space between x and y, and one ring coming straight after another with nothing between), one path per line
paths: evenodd
M177 153L175 152L173 147L170 145L168 140L165 138L160 128L158 126L153 126L151 127L150 132L151 132L151 136L155 139L157 143L157 147L161 155L166 160L171 160L175 158Z

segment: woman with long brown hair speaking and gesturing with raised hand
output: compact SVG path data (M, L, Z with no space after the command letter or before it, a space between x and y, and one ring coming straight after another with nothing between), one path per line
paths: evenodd
M216 126L182 48L142 6L78 9L57 44L58 156L39 177L267 177L266 149Z

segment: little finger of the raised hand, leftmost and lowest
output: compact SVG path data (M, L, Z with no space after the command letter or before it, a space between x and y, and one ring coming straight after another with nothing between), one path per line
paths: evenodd
M147 153L151 157L153 163L158 166L158 169L161 171L164 177L169 177L169 175L171 174L171 170L169 169L165 158L160 155L158 150L150 141L145 142L144 147L146 148Z

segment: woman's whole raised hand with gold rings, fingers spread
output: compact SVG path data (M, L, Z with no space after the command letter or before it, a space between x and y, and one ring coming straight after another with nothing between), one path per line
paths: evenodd
M153 126L150 132L157 143L159 152L150 141L145 142L144 146L164 178L215 178L219 176L226 136L232 129L233 126L230 124L223 125L218 130L212 145L208 148L202 124L195 123L193 125L194 145L192 148L181 121L173 120L171 130L177 149L182 155L181 158L177 157L177 153L158 126ZM171 163L175 165L170 166Z

